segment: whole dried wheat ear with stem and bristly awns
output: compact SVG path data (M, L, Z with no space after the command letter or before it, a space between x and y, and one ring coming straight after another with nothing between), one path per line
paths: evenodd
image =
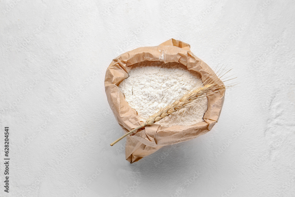
M220 73L219 73L220 69L219 69L219 71L217 71L217 73L219 73L219 76L220 75L224 76L224 72L225 71L229 72L231 69L225 70L225 71L224 70L225 69L223 69ZM215 93L220 92L224 89L228 89L228 88L236 85L236 84L233 84L233 85L228 84L227 86L224 86L223 82L226 82L228 80L222 82L218 78L219 76L217 76L216 74L211 77L208 76L207 80L205 80L204 82L202 82L202 80L200 79L199 82L196 85L194 85L194 87L192 87L191 90L183 93L182 95L180 95L180 97L175 98L171 104L161 108L157 113L151 115L142 125L138 126L137 128L133 129L132 131L124 134L122 137L120 137L119 139L117 139L116 141L114 141L110 145L113 146L118 141L123 139L125 136L133 133L134 131L136 131L142 127L145 127L147 125L152 125L153 123L160 121L161 119L177 112L178 110L181 110L183 108L189 107L191 105L195 105L199 102L202 102L203 100L214 95ZM213 80L214 78L215 78L215 81ZM233 78L233 79L235 79L235 78ZM229 79L229 80L232 80L232 79ZM202 87L203 83L206 84L206 85L204 85L204 87Z

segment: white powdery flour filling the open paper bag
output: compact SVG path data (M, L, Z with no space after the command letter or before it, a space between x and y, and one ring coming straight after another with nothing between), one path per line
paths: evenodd
M167 65L174 66L171 68ZM140 121L145 121L150 115L160 108L168 105L173 98L183 91L189 90L196 84L200 75L189 71L181 64L172 62L142 62L132 67L129 77L124 79L119 88L125 95L125 100L140 116ZM178 68L176 67L178 66ZM161 126L193 125L204 121L203 116L207 111L208 100L184 108L179 112L163 118L156 124Z

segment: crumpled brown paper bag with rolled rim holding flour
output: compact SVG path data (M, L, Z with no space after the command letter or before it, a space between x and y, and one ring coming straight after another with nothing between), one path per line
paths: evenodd
M200 74L203 82L210 77L214 82L223 83L216 77L214 71L190 51L190 45L179 40L170 39L154 47L140 47L128 51L113 59L106 70L105 90L109 105L119 125L125 132L131 131L142 124L123 93L119 90L119 83L128 77L132 66L142 61L178 62L187 69ZM130 163L148 156L163 146L176 144L194 139L210 131L218 121L224 102L225 90L208 98L208 109L204 114L204 121L190 126L163 127L156 123L145 126L127 136L126 160ZM151 114L152 115L152 114Z

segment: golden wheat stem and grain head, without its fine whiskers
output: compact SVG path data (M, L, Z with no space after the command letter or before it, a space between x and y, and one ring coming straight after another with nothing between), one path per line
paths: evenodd
M132 131L124 134L122 137L114 141L111 146L116 144L118 141L129 135L130 133L136 131L147 125L152 125L155 122L160 121L161 119L167 117L168 115L175 113L176 111L188 107L192 104L195 104L198 101L204 100L204 97L212 95L216 93L216 91L220 91L221 89L225 89L225 87L218 87L217 83L207 84L204 87L194 88L188 92L186 92L183 96L181 96L178 100L174 101L172 104L167 105L166 107L161 108L157 113L150 116L142 125L133 129ZM209 93L211 92L211 93ZM207 95L209 93L209 95ZM204 96L205 95L205 96Z

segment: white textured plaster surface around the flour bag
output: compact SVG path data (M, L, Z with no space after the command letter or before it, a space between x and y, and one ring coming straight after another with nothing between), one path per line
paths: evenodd
M0 196L295 196L294 8L291 0L1 0ZM124 141L109 146L123 131L105 71L121 53L170 38L211 67L234 67L241 84L227 91L212 131L130 164Z

